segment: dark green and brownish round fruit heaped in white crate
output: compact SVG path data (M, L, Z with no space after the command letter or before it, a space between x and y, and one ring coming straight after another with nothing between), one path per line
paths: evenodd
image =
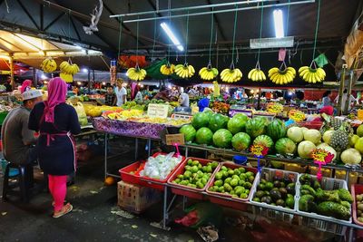
M260 179L253 201L264 202L272 206L294 209L295 207L295 187L292 179L273 177L270 181Z

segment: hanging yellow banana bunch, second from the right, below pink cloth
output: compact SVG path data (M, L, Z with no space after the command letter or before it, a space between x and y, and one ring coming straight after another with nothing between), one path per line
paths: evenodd
M283 62L280 68L273 67L269 70L269 78L272 82L278 85L285 85L294 81L296 71L293 67L287 67Z

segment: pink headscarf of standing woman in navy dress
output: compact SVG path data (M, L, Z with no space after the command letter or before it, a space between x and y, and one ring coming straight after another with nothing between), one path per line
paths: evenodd
M45 101L44 116L46 122L54 122L54 108L65 102L67 84L60 78L53 78L48 84L48 101Z

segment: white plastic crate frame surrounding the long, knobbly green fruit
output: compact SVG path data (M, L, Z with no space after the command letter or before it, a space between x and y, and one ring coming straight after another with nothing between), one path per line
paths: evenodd
M299 174L299 178L302 175L304 175L304 174ZM317 176L314 176L314 175L310 175L310 176L312 178L317 178ZM347 182L343 179L329 179L329 178L323 177L321 179L320 185L321 185L321 189L325 189L325 190L348 189ZM301 186L301 184L299 183L299 180L298 180L298 186L297 186L298 196L300 194L300 186ZM300 198L300 196L299 196L299 198ZM347 227L338 225L338 224L334 223L334 221L340 221L340 222L344 221L344 222L348 222L348 223L352 222L351 217L349 218L349 220L341 220L338 218L319 215L317 213L309 213L309 212L300 211L299 210L299 199L297 199L295 201L295 207L297 208L298 212L301 215L314 217L314 218L299 217L299 225L303 225L303 226L307 226L307 227L314 227L316 229L319 229L320 231L325 231L325 232L333 233L336 235L344 235L347 231ZM350 214L351 214L351 208L350 208ZM323 219L328 218L332 222L320 220L321 218L323 218Z

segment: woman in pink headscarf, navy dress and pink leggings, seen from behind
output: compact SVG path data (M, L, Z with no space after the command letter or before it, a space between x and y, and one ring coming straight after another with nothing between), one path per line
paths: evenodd
M72 211L64 205L67 175L75 171L73 135L81 131L74 107L65 103L67 84L59 77L48 84L48 101L34 106L29 117L29 129L39 131L38 158L41 168L48 174L49 190L54 198L54 218Z

